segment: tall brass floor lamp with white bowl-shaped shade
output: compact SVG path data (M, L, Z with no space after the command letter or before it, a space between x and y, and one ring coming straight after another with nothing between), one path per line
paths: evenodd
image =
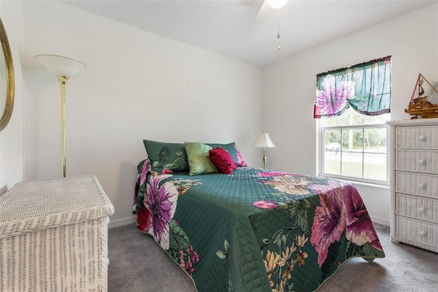
M86 64L70 58L56 55L37 55L36 60L40 62L50 73L57 75L61 84L61 156L62 156L62 178L66 177L66 93L65 85L68 78L73 77L86 69Z

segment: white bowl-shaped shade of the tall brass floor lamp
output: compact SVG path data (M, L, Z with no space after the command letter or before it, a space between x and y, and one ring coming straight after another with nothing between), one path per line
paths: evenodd
M37 55L35 58L46 67L50 73L64 77L73 77L87 67L83 62L62 56Z

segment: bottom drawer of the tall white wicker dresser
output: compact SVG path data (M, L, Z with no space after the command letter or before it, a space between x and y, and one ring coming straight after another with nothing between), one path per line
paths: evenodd
M396 236L438 247L438 224L396 216Z

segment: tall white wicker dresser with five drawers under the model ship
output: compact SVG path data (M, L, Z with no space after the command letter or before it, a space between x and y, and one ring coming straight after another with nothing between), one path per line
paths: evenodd
M438 252L438 119L388 124L391 241Z

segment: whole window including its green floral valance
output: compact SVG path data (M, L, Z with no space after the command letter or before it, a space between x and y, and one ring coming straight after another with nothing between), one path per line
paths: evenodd
M387 184L391 57L317 75L320 175Z

